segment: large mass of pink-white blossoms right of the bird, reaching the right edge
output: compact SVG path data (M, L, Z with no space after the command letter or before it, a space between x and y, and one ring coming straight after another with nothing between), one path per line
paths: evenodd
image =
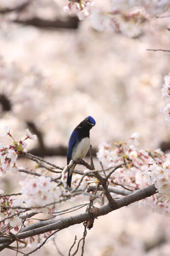
M117 143L116 148L101 142L97 157L105 168L122 165L111 174L109 185L119 184L136 190L155 184L158 193L143 199L141 204L161 214L170 214L170 160L161 149L152 153L138 149L134 145L138 144L138 137L139 134L134 133L130 138L133 144L129 145L126 140Z

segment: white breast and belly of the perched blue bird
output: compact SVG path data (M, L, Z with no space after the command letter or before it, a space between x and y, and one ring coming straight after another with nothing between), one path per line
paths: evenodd
M83 138L78 144L77 147L73 149L71 159L77 160L82 159L86 156L88 149L90 147L90 138Z

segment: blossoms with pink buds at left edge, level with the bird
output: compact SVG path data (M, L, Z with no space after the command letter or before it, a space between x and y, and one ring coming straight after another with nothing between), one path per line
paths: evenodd
M10 133L10 126L5 126L5 132L1 133L1 136L6 135L9 135L9 137L14 140ZM25 140L27 140L28 138L32 140L37 138L36 135L32 135L29 132L29 129L26 129L26 135L27 137L23 141L14 140L12 145L5 146L4 144L0 143L0 176L2 178L5 177L7 170L14 174L18 172L16 160L20 154L24 154L27 152L27 144Z

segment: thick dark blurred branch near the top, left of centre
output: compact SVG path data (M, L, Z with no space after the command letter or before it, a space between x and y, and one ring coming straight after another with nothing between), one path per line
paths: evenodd
M67 29L77 29L79 25L79 19L77 17L67 17L65 20L47 20L41 19L39 17L34 17L28 20L16 19L14 22L23 25L31 25L39 28L67 28Z

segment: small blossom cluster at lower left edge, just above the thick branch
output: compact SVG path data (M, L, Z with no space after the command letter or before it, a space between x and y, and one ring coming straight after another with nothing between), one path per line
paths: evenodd
M2 196L0 198L0 216L2 218L0 223L0 231L7 225L7 232L10 232L11 228L14 228L15 231L19 230L19 227L22 225L22 219L19 217L21 212L25 208L23 204L23 199L16 199L14 196ZM14 209L13 209L13 208Z

